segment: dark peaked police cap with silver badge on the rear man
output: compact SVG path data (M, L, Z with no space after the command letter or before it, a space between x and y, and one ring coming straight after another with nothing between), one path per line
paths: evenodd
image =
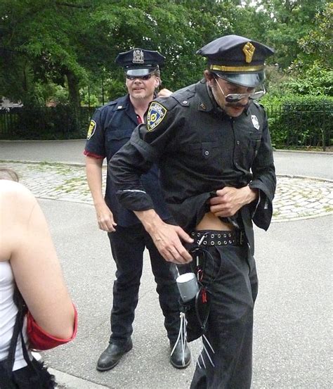
M124 68L126 75L141 77L159 69L164 59L158 51L133 49L119 53L116 63Z

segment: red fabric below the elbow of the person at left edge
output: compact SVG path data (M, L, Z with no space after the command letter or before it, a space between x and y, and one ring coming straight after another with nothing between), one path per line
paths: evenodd
M65 345L77 336L77 309L74 304L74 331L69 339L59 339L50 335L34 321L32 314L27 312L27 336L30 348L34 350L49 350L50 348Z

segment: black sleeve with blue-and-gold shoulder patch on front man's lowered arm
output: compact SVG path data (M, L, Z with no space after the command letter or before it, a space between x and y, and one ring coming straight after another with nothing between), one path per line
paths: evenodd
M175 104L169 98L166 106ZM162 107L159 115L157 106ZM160 109L160 108L159 108ZM139 125L131 139L110 160L108 174L117 189L119 202L129 210L149 210L154 208L152 199L145 192L140 177L148 172L153 163L169 147L170 134L173 131L173 115L169 108L157 101L152 101L146 117L147 125Z

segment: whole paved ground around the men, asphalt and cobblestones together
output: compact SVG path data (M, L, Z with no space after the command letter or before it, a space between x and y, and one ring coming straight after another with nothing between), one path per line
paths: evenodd
M96 227L81 165L83 147L84 141L0 142L0 165L17 170L20 181L39 197L79 310L77 339L43 353L43 358L60 388L189 388L194 363L184 371L169 364L147 256L133 350L112 371L95 369L110 336L115 264L105 234ZM54 163L58 161L65 164ZM256 229L260 290L252 389L328 389L332 387L333 155L276 152L275 162L279 175L273 224L267 233ZM190 347L197 357L200 342Z

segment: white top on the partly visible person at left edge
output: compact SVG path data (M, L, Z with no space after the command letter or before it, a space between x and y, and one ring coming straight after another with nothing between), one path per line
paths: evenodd
M0 262L0 361L8 357L8 348L13 336L13 329L18 308L13 301L14 277L9 261ZM22 329L25 344L27 344L27 323ZM30 354L30 353L29 353ZM22 352L20 336L16 345L13 371L27 366Z

